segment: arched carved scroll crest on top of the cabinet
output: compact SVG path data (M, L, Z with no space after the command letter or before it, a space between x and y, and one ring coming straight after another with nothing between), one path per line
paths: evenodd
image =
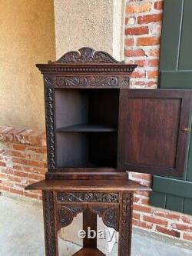
M118 63L107 52L96 52L93 48L83 47L78 52L67 52L55 63Z

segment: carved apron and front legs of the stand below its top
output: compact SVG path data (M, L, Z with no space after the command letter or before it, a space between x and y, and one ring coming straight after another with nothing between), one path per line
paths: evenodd
M106 226L119 231L118 255L131 255L132 198L130 192L43 191L46 255L58 255L58 230L80 212L84 221L98 214ZM84 238L84 248L97 248L97 241L88 240L93 239Z

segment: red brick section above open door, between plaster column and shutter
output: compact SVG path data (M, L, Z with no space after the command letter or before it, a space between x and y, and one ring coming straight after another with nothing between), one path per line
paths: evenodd
M157 87L162 7L162 1L127 0L124 58L138 65L132 88Z

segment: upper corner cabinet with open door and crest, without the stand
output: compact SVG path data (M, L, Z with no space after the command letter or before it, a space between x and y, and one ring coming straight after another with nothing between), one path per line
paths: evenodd
M136 65L91 48L37 67L45 81L47 180L183 175L192 90L130 89Z

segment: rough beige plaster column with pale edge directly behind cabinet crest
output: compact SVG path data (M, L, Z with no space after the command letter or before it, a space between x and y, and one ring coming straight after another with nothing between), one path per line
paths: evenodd
M123 58L124 0L55 0L56 55L90 46Z

